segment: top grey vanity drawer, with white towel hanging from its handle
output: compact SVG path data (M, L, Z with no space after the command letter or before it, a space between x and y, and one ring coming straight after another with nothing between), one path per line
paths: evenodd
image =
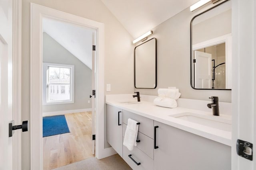
M139 132L154 139L154 121L152 119L123 110L123 123L127 125L129 118L140 122Z

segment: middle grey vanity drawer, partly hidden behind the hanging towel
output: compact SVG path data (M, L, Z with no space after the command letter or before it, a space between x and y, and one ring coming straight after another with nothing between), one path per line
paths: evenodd
M126 131L127 125L123 123L123 137ZM142 150L150 158L154 158L154 140L150 137L144 135L143 133L138 132L137 140L140 142L137 143L137 148Z

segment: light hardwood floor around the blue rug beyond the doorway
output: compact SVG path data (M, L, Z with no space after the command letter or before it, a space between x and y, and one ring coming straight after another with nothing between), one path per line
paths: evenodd
M44 170L51 170L94 156L92 146L92 113L65 114L70 133L43 138Z

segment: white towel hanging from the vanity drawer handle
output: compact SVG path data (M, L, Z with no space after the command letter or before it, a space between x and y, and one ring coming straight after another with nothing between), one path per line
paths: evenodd
M124 143L123 145L126 146L129 150L133 150L134 146L137 146L136 140L138 136L138 128L137 121L133 119L128 119L128 125L126 127L126 131L124 134Z

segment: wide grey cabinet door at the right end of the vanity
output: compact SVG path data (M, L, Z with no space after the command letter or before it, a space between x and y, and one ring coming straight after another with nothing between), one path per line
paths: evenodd
M154 121L154 170L231 170L231 147Z

